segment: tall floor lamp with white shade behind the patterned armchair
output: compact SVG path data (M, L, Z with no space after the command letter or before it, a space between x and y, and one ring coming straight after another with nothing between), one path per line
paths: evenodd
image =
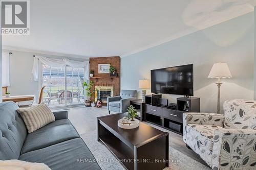
M228 68L227 63L215 63L209 73L208 78L218 79L216 83L218 86L218 103L217 103L217 113L220 113L220 88L221 88L221 79L222 78L232 78L231 72Z

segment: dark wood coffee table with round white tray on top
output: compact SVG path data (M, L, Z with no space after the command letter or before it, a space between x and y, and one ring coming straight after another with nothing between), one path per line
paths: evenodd
M138 128L122 129L121 113L97 118L97 140L127 169L160 170L169 166L169 134L140 122Z

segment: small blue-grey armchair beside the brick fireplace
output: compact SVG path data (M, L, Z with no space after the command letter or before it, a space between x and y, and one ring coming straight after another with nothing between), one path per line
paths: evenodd
M137 90L121 90L119 96L107 99L107 107L110 111L125 113L130 106L130 101L137 98Z

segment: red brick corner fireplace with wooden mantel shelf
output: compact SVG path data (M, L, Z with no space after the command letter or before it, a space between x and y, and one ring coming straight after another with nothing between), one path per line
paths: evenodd
M109 95L109 88L113 88L113 94L111 94L112 96L117 96L120 94L120 77L110 77L110 74L99 74L98 64L111 64L116 67L116 72L118 75L120 75L120 57L90 58L90 70L94 70L93 78L90 78L90 80L94 82L92 89L95 89L95 86L107 88L107 90L101 92L102 100L104 103L106 95ZM95 95L92 96L91 101L97 100L95 96L98 96L98 93L95 93Z

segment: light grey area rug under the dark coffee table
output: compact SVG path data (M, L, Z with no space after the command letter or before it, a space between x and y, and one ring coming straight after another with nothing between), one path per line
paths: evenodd
M96 140L97 131L91 131L81 134L83 141L94 155L96 161L102 170L125 170L125 168L118 162L116 157L105 147L102 142ZM189 158L176 149L169 147L169 167L164 170L210 170L211 168L201 164L200 162Z

